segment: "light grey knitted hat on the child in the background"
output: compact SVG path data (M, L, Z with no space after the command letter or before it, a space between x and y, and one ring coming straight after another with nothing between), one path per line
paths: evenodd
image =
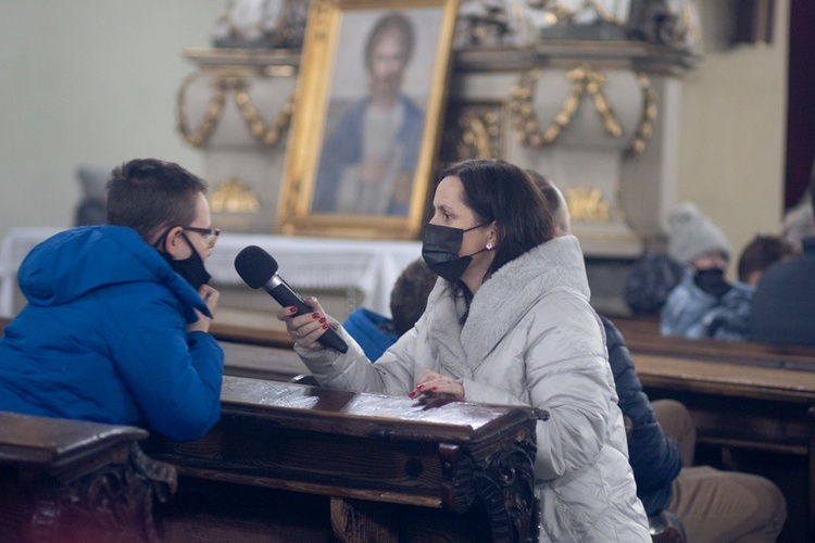
M716 251L730 260L730 244L722 229L691 202L674 207L668 216L668 254L682 264L690 264Z

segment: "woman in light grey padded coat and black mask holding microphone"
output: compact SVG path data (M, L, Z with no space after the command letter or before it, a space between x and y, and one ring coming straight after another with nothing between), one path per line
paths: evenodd
M650 542L582 253L576 238L554 238L541 198L506 162L443 172L422 250L439 280L414 329L375 364L341 327L348 353L317 342L334 321L314 299L313 314L284 307L278 318L323 386L546 409L540 541Z

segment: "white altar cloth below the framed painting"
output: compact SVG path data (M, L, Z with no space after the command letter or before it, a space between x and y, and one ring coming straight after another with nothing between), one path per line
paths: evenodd
M0 316L14 316L20 264L40 241L60 228L13 228L0 245ZM422 256L419 241L350 240L223 232L206 261L213 283L242 285L235 256L248 245L268 252L280 277L292 289L349 290L363 294L362 305L390 316L390 291L399 274Z

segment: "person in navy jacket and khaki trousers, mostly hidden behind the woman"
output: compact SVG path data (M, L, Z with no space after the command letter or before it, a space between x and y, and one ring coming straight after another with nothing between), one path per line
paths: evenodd
M554 209L562 235L572 232L568 206L557 188L527 171ZM693 466L695 425L688 409L672 400L649 401L623 334L602 316L609 363L619 408L630 421L628 459L637 495L649 516L675 514L692 543L774 542L783 529L787 506L769 480L710 466Z

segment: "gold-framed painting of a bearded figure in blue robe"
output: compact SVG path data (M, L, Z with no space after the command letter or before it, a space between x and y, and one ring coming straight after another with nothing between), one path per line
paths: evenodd
M313 0L278 233L415 239L435 175L456 0Z

